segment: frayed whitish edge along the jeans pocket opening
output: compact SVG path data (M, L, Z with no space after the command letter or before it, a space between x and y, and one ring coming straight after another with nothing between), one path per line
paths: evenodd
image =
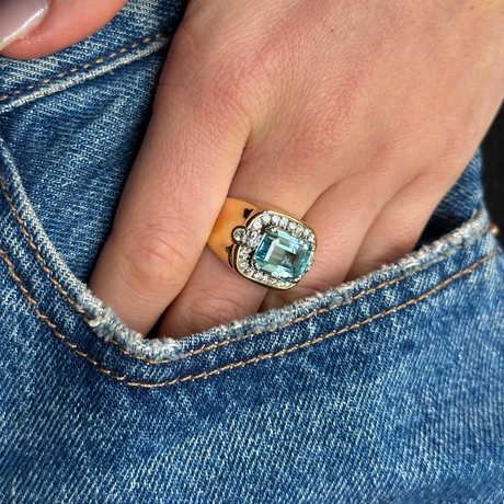
M12 199L15 213L23 222L22 227L26 227L26 232L30 233L34 247L42 254L41 259L43 257L50 273L56 275L59 278L58 282L61 282L65 288L71 293L70 296L76 301L77 309L85 313L89 325L94 333L104 341L114 341L123 350L137 357L146 357L152 360L177 360L184 358L186 352L190 352L193 345L202 342L222 341L230 337L239 340L253 332L259 333L282 328L289 321L318 309L336 308L345 301L348 302L352 297L351 291L358 293L365 286L369 286L370 283L380 282L386 277L411 276L447 257L451 257L460 249L466 249L473 244L480 238L488 222L486 211L484 208L480 208L474 210L467 222L439 240L423 245L398 262L385 265L359 279L342 284L325 293L300 299L287 307L236 320L182 340L171 337L146 340L141 334L128 328L111 308L104 307L100 299L73 275L68 265L61 260L30 203L14 160L1 138L0 159L5 167L3 182L9 186L9 197ZM30 228L30 231L27 228Z

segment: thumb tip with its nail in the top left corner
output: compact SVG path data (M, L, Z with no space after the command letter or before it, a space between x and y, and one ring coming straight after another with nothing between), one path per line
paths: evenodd
M126 0L0 0L0 51L31 59L92 35Z

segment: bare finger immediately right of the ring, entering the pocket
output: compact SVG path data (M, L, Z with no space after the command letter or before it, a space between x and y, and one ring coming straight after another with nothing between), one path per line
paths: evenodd
M313 265L299 284L286 291L270 291L261 310L279 308L341 284L374 219L399 191L402 181L379 182L373 172L346 179L323 193L303 220L317 233Z

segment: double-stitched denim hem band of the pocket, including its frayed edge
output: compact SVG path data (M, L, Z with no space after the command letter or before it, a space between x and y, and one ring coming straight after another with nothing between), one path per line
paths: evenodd
M362 332L368 325L369 330L387 327L391 318L404 324L427 302L433 303L428 312L437 323L446 314L437 307L439 293L457 291L477 270L482 280L500 285L499 277L483 274L499 251L480 207L457 229L358 280L180 341L146 340L105 308L61 260L34 211L14 160L4 145L0 148L4 210L0 253L18 287L18 295L10 297L14 308L27 301L33 310L27 321L18 323L30 330L33 318L38 318L94 369L129 386L152 388L206 378ZM466 183L478 169L477 156L462 177ZM457 194L457 186L453 193Z

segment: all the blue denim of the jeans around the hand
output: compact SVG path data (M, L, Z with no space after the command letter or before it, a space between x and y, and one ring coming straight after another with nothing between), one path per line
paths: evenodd
M0 59L0 502L503 502L479 152L413 253L283 309L147 340L87 289L183 9Z

